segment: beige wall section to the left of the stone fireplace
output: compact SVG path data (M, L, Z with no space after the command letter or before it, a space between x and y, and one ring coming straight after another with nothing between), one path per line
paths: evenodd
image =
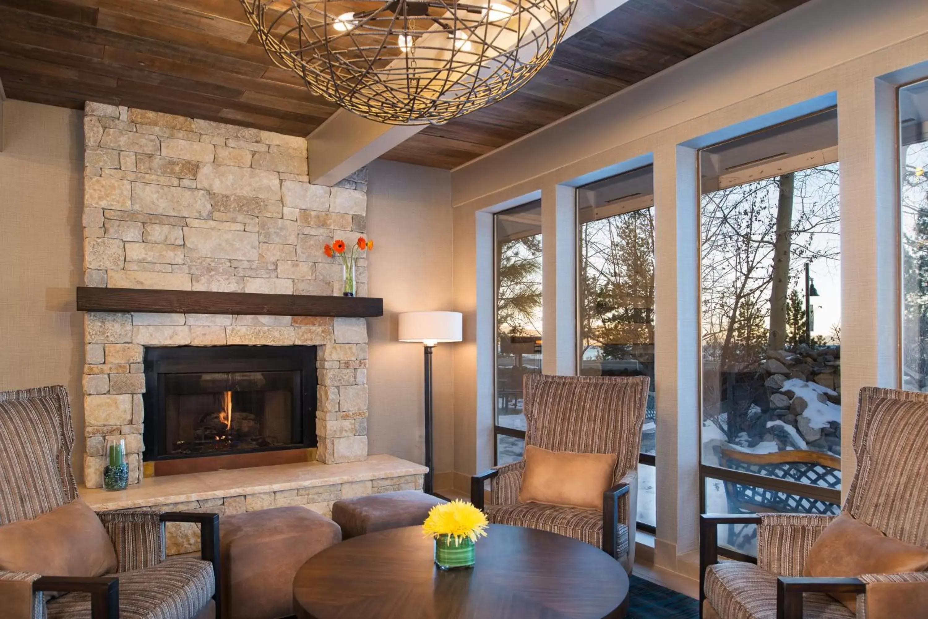
M0 151L0 390L63 384L84 426L83 114L8 100ZM81 475L83 454L75 453Z

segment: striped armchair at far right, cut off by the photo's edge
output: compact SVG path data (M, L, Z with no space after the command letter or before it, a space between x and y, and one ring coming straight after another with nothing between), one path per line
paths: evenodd
M842 511L884 535L928 548L928 393L860 390L854 451L857 471ZM703 619L854 619L830 593L857 594L857 619L870 613L924 616L928 573L803 577L809 549L835 516L705 514L700 562ZM717 562L717 526L757 525L757 563ZM805 594L805 595L804 595ZM918 608L907 614L906 608ZM879 608L880 610L874 610Z

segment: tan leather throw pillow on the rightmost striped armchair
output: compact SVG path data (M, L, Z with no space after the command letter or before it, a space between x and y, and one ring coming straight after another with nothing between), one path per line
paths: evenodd
M928 548L912 546L883 535L848 513L831 521L809 550L806 576L856 577L860 574L901 574L928 570ZM834 598L857 613L857 596Z

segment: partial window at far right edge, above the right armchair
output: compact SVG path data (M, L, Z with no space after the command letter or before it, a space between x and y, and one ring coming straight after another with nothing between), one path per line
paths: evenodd
M899 89L902 388L928 391L928 81Z

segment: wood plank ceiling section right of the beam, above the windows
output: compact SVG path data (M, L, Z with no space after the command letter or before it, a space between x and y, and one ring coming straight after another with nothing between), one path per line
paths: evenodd
M583 0L580 0L581 2ZM521 90L427 127L383 159L454 168L807 0L629 0L564 41Z

